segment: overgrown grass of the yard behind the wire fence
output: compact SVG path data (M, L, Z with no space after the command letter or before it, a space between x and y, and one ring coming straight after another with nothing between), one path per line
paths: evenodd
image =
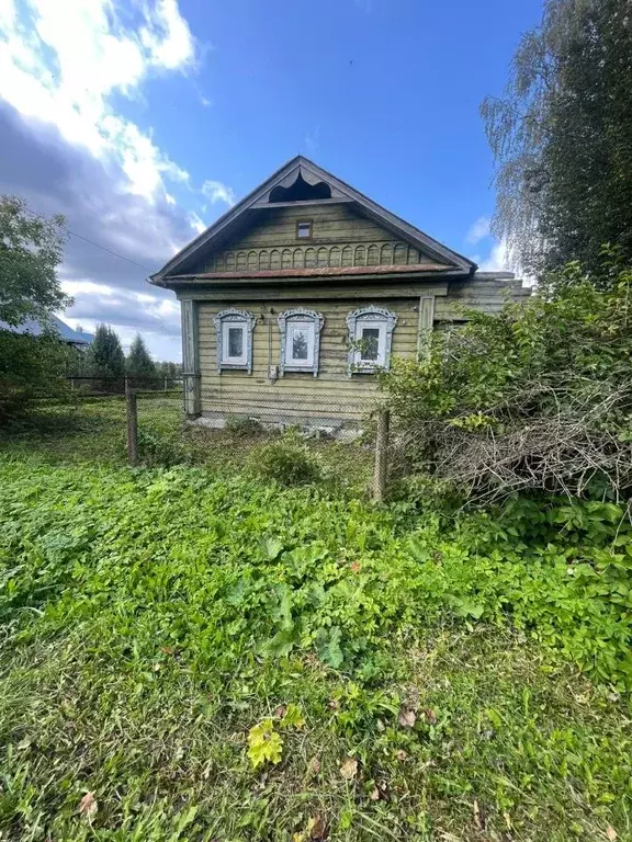
M230 476L248 463L257 465L257 456L251 456L253 450L280 440L278 433L266 432L242 419L226 430L184 423L182 397L178 394L166 397L161 392L142 392L137 406L139 456L142 464L149 467L204 465L216 475ZM125 412L122 396L77 398L64 403L42 401L14 426L0 426L0 448L4 454L27 456L47 465L125 465ZM330 487L365 493L372 471L371 446L307 440L304 450L312 455L312 465L319 466L316 474Z

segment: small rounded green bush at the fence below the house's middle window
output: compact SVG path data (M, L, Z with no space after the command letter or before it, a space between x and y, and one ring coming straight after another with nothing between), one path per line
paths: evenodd
M256 476L282 486L317 482L323 477L320 462L297 432L290 431L253 447L248 465Z

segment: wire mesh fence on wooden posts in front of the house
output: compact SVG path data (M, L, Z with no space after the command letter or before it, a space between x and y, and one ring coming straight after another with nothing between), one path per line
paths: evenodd
M297 380L301 383L301 380ZM43 448L49 457L133 465L223 465L239 468L253 448L300 436L329 475L361 477L381 501L388 473L388 419L375 397L318 401L308 390L261 400L198 388L191 409L187 378L70 377L32 405L0 447Z

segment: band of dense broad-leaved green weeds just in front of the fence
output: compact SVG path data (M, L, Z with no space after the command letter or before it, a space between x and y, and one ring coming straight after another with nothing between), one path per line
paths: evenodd
M10 467L5 474L13 476ZM72 483L64 470L50 480L48 475L35 470L25 482L15 474L3 492L3 511L13 519L5 534L7 560L21 557L33 541L59 549L48 561L40 550L29 550L10 576L13 584L0 604L12 622L21 618L18 605L37 605L33 587L46 594L64 590L79 541L81 557L88 556L72 576L80 577L88 613L103 588L116 581L108 601L113 611L139 616L143 606L156 602L151 623L160 624L158 594L165 588L171 592L169 582L180 582L178 611L184 614L169 637L202 658L201 668L215 658L198 639L195 615L202 605L204 634L218 646L218 658L226 646L253 647L273 658L306 649L331 667L361 671L397 628L421 617L433 622L448 611L495 623L510 616L599 680L632 689L627 585L632 530L625 511L612 503L546 508L517 499L449 528L436 515L398 524L391 515L313 489L282 492L240 479L214 482L200 470L173 468L134 478L113 474L102 513L99 487L105 479L95 479L92 497L67 502L54 522L57 496L71 494ZM79 489L83 479L75 482ZM29 489L48 486L49 502L44 497L31 509ZM74 537L65 538L70 524ZM170 553L160 560L155 550L167 534L176 534L173 528L184 544L177 557ZM191 559L202 546L215 561L201 560L193 569ZM140 557L153 558L145 572L134 561ZM63 603L74 599L74 592L63 594ZM59 622L70 602L55 611ZM172 602L165 605L167 613L172 610Z

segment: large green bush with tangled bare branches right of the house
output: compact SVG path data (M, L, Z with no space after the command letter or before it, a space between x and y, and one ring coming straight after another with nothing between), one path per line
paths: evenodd
M482 500L628 496L631 293L610 253L599 277L572 263L527 303L436 332L422 362L396 362L383 386L413 473Z

